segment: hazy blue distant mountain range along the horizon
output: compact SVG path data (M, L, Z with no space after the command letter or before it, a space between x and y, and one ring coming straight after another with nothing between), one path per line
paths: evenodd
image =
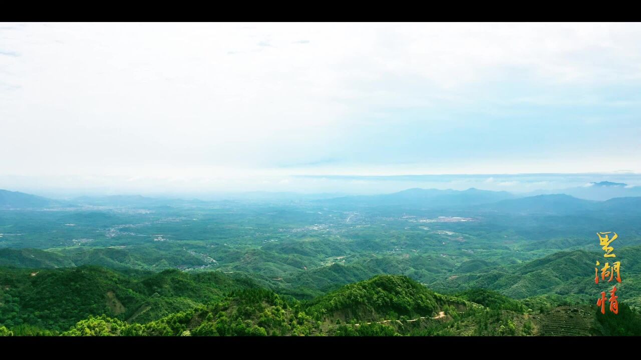
M301 195L297 200L288 193L287 199L281 199L279 193L273 197L267 193L256 193L258 201L273 200L288 202L308 201L322 206L382 206L412 209L476 209L512 213L574 213L576 211L598 211L617 208L633 212L641 211L641 187L628 186L624 183L590 183L590 186L569 188L556 193L543 191L527 194L494 192L469 188L467 190L438 190L412 188L396 193L381 195L353 195L342 197L317 197ZM612 195L620 195L613 197ZM250 193L236 200L251 200ZM285 202L283 202L283 200ZM0 209L41 209L55 206L105 206L112 208L149 208L158 206L204 205L213 204L203 200L184 200L151 198L141 195L112 195L102 197L76 197L71 200L53 200L28 193L0 190Z

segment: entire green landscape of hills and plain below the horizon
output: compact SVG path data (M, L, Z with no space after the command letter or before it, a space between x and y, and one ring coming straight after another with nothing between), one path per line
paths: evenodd
M638 334L637 198L10 196L2 335ZM595 232L611 230L623 282L603 316Z

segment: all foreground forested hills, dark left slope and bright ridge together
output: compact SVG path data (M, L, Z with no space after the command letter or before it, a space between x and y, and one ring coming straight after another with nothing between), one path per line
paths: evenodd
M9 275L4 270L4 283L10 283ZM24 275L31 276L19 273L13 277ZM67 289L53 285L63 279L69 281ZM83 266L49 274L43 281L31 284L40 296L52 298L42 304L35 304L35 297L6 302L12 298L4 293L0 308L33 316L3 320L0 335L641 335L641 315L625 304L620 304L619 315L601 315L595 306L569 306L551 298L522 302L491 290L441 295L399 275L379 275L348 284L309 302L214 273L196 277L177 271L124 275ZM88 282L94 282L94 290L88 288ZM8 286L12 284L15 282ZM54 289L62 292L56 295ZM69 291L90 293L77 304L56 306L69 299ZM150 315L145 321L133 319L128 306L133 306L133 313L147 311ZM69 326L60 326L63 323Z

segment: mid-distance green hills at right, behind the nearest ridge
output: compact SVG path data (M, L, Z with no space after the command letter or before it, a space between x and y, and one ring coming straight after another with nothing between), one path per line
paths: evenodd
M622 247L617 252L624 279L618 286L625 294L622 299L631 306L641 306L641 247ZM483 288L500 291L515 299L562 295L568 300L591 302L597 289L593 280L597 260L604 263L603 254L585 250L554 252L517 264L472 259L455 266L451 259L439 256L379 258L313 269L289 281L299 289L306 289L307 295L320 295L340 284L361 281L377 274L405 274L414 279L431 279L428 286L442 293ZM421 270L415 270L417 268Z

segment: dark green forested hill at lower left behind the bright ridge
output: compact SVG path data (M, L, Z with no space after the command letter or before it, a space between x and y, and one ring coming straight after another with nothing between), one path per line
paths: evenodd
M219 272L122 273L97 266L0 268L0 323L64 331L91 315L148 322L252 286L249 279Z

